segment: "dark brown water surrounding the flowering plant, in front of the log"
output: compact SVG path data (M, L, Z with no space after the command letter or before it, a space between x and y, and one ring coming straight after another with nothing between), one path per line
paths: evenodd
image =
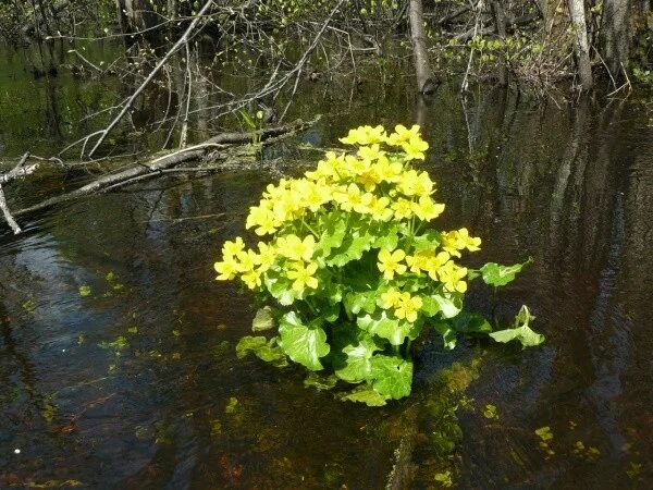
M546 343L446 353L427 339L408 400L337 402L299 370L237 359L254 311L213 280L221 243L278 175L157 180L2 232L1 488L651 486L649 114L634 99L558 108L483 89L463 103L445 86L418 103L399 78L366 87L305 87L296 112L330 115L300 139L422 124L443 226L483 237L477 262L534 258L470 305L508 318L526 303ZM292 146L268 158L317 158ZM10 192L29 198L26 184Z

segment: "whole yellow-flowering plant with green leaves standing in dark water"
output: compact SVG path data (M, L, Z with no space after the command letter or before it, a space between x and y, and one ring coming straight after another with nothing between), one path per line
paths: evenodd
M341 142L353 150L330 151L303 177L268 185L246 221L261 237L255 248L242 237L224 243L218 279L238 278L275 306L275 335L244 338L239 355L328 369L365 383L344 397L379 405L410 393L410 344L426 326L448 348L463 331L523 345L543 341L530 330L526 307L515 328L498 332L480 317L459 315L470 279L504 285L523 265L470 270L458 262L480 249L481 238L465 228L431 225L444 205L433 199L429 174L410 166L429 147L419 126L398 125L392 134L362 126Z

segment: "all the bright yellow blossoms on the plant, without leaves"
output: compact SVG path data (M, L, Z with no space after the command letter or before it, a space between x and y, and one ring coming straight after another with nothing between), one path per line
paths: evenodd
M267 186L259 204L250 208L245 225L259 236L275 235L274 238L270 243L259 242L256 249L246 249L241 237L226 242L222 261L214 265L219 280L239 277L247 287L260 290L263 281L285 278L288 289L300 297L306 291L318 290L318 272L324 264L320 261L324 257L316 257L317 240L323 233L317 216L342 212L348 222L349 213L354 212L379 226L391 220L404 222L412 234L416 220L428 222L444 211L444 205L431 197L434 184L429 174L407 166L409 160L423 159L429 147L419 134L419 126L397 125L390 135L383 126L361 126L349 131L341 142L358 145L356 152L329 151L303 177L282 179ZM464 293L467 269L453 258L460 257L463 249L478 250L481 240L463 228L442 233L441 242L441 249L381 248L378 268L386 281L409 271L412 278L428 274L442 284L444 292ZM385 304L397 318L415 321L421 299L409 293L395 293L396 297L384 299Z

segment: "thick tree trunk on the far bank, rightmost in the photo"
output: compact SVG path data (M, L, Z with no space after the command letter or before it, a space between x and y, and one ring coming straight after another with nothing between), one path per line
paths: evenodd
M623 77L623 70L628 65L632 32L629 14L629 0L605 0L601 26L604 35L603 58L615 79Z

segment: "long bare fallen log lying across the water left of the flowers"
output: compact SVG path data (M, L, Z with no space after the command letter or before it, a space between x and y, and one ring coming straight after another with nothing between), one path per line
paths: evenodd
M36 211L41 211L62 203L78 199L81 197L89 196L99 192L108 192L121 185L133 183L141 179L163 175L165 173L169 173L167 172L169 169L172 169L181 163L201 161L202 159L209 157L211 159L224 158L223 154L215 155L214 152L217 150L223 150L227 148L229 145L250 143L255 139L260 140L262 143L266 139L270 139L275 136L295 134L296 132L315 124L318 120L319 118L310 122L296 120L292 123L284 124L281 126L266 127L259 131L248 133L223 133L199 145L176 150L169 155L163 155L145 163L137 162L134 167L131 167L126 170L122 170L120 172L107 173L79 188L76 188L74 191L59 196L50 197L49 199L46 199L34 206L29 206L27 208L23 208L19 211L15 211L13 216L21 217L34 213ZM2 175L0 175L0 182L2 182ZM7 221L8 223L10 223L9 219L7 219ZM16 233L15 229L14 233ZM20 233L20 231L17 233Z

